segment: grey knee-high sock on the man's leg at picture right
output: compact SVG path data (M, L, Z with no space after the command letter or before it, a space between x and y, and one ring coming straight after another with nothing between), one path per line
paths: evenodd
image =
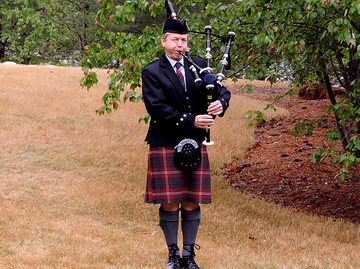
M183 233L183 253L182 256L189 256L191 246L196 242L196 237L199 231L201 219L200 206L192 211L187 211L181 208L181 229Z

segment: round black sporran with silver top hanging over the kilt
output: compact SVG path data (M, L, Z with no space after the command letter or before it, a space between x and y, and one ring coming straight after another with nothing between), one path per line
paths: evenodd
M175 165L181 170L194 170L201 164L201 151L194 139L185 138L175 147Z

